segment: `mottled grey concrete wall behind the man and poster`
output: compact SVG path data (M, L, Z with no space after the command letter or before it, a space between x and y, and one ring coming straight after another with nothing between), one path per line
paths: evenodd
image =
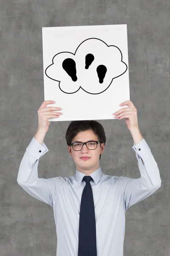
M162 180L158 191L127 210L124 256L170 255L170 1L0 0L0 256L56 254L52 207L17 184L44 100L42 27L104 24L127 24L130 99ZM125 120L101 123L107 136L102 171L140 177ZM39 177L74 175L68 124L51 123Z

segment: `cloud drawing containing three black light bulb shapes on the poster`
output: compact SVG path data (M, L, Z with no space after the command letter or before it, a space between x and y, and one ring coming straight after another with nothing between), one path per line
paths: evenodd
M82 89L86 93L103 93L113 79L127 71L122 61L121 50L107 45L99 38L88 38L77 47L75 53L59 52L52 64L45 69L49 79L59 82L64 93L76 93Z

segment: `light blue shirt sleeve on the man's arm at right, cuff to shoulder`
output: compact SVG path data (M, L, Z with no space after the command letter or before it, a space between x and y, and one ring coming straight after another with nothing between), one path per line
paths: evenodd
M125 210L147 198L161 186L158 165L145 139L136 145L133 144L132 148L136 152L141 177L122 177Z

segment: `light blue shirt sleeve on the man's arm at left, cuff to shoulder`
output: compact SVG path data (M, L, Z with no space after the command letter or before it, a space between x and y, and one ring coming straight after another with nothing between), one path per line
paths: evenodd
M46 152L48 152L48 148L45 143L43 142L41 145L33 137L21 160L17 183L28 192L29 195L53 207L58 177L47 179L38 177L39 159Z

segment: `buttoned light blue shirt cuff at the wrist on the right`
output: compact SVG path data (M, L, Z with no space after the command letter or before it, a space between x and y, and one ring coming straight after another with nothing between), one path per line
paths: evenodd
M151 152L150 147L147 145L147 142L144 138L139 143L137 143L136 145L133 143L132 149L140 157L148 156L148 154L150 154L150 152Z

